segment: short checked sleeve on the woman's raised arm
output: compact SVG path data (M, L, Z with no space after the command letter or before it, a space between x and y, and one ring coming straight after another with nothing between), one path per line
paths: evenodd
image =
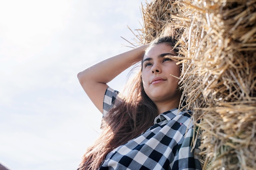
M119 92L108 87L103 100L103 117L108 114L112 107L116 107L121 99L118 97Z

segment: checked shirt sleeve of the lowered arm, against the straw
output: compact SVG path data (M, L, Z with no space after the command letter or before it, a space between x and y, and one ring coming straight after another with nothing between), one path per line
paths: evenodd
M182 142L180 149L175 156L172 169L202 170L201 163L199 161L200 139L198 138L195 140L195 147L191 146L192 141L196 136L196 131L194 131L193 128L190 128L187 131L184 141Z

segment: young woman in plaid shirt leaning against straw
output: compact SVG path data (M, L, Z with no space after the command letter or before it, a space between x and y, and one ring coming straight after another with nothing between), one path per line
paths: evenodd
M162 36L111 57L78 74L86 94L103 113L102 134L90 146L78 170L198 170L198 144L191 112L179 111L181 67L174 35ZM141 69L128 94L107 83L131 65Z

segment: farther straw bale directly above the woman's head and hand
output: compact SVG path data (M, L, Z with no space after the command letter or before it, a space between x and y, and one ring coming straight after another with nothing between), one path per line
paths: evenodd
M181 35L182 23L186 18L180 17L180 13L184 13L180 5L175 0L153 0L151 2L146 0L145 4L141 4L143 26L135 31L129 28L135 38L133 38L133 43L128 42L133 46L150 43L159 36L163 27L166 26L166 22L172 23L173 28Z

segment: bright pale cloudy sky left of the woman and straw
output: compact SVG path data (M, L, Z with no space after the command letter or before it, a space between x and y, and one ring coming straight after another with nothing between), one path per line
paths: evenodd
M100 133L77 73L130 50L142 0L0 0L0 161L72 170ZM122 90L128 70L110 87Z

